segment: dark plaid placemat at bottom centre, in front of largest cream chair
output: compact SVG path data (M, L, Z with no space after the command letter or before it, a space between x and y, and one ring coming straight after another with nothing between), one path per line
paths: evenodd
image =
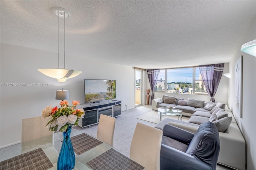
M143 170L144 167L111 148L87 162L93 170Z

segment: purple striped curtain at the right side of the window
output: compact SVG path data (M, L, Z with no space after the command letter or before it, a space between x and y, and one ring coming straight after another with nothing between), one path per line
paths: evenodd
M202 75L206 91L210 96L210 101L215 102L214 95L218 89L220 78L222 76L224 63L199 65L199 70Z

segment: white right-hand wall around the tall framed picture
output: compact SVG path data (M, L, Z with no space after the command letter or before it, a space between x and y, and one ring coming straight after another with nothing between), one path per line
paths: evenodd
M241 46L251 40L256 39L256 16L252 20L251 25L240 45L237 47L236 53L230 61L230 71L232 78L230 79L230 107L234 113L235 119L246 140L247 158L246 164L248 170L256 169L256 57L240 51ZM235 105L235 63L236 60L243 55L243 81L242 81L242 118L236 113Z

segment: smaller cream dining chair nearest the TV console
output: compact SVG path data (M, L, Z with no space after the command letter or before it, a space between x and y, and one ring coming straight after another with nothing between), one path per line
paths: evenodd
M113 146L115 125L115 118L101 114L97 129L97 138Z

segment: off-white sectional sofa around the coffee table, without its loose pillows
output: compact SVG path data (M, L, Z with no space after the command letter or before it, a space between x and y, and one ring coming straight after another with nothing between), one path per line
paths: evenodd
M160 100L162 98L152 100L153 110L157 110L159 107L157 107L159 105L157 102ZM179 109L182 110L182 108ZM226 106L224 112L228 114L228 117L232 117L232 122L224 132L220 132L219 130L220 154L218 163L233 169L246 170L246 142L234 119L232 111ZM194 113L182 113L182 116L184 115L190 117L189 122L165 118L154 127L162 129L165 124L170 124L195 133L201 123L210 120L211 113L209 111L203 112L202 108L196 108Z

